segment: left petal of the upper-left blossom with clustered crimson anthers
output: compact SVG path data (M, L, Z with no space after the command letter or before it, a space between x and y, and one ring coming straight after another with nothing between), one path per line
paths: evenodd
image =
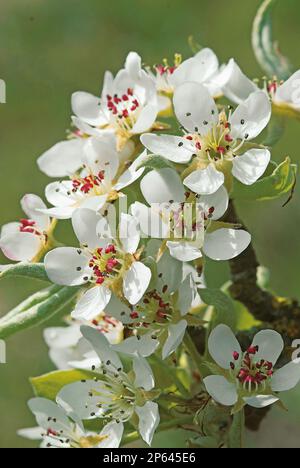
M103 124L100 99L90 93L83 91L73 93L72 110L77 117L90 125Z

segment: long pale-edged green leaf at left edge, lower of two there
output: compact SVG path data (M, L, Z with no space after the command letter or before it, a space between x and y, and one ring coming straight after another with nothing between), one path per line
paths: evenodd
M8 338L22 330L32 328L58 314L78 294L78 287L64 287L33 307L0 321L0 339Z

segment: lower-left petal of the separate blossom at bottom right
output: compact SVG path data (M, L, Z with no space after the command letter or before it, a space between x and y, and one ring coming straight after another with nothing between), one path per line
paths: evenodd
M210 396L221 405L233 406L238 401L236 386L220 375L210 375L204 379L204 385Z

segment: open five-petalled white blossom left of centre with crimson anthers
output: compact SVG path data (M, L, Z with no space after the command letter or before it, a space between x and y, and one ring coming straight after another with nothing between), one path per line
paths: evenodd
M135 218L122 213L118 238L108 220L92 210L76 210L72 222L81 247L52 250L45 257L45 268L55 284L90 286L78 301L73 318L97 317L112 292L137 304L149 286L151 270L138 260L140 233Z

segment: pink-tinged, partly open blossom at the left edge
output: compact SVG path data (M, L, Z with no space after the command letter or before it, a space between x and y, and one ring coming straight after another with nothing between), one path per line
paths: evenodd
M2 226L0 249L10 260L31 262L47 248L51 219L41 213L46 205L37 195L25 195L21 206L27 218Z

